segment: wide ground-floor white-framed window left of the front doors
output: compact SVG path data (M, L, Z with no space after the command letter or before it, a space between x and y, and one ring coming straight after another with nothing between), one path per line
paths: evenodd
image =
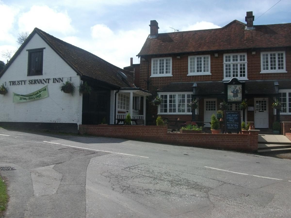
M162 103L158 106L158 114L192 114L189 103L193 93L160 93Z

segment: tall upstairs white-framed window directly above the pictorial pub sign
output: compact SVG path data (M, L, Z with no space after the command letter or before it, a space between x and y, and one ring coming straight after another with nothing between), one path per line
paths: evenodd
M223 80L230 80L234 77L239 80L247 80L246 53L223 54L223 72Z

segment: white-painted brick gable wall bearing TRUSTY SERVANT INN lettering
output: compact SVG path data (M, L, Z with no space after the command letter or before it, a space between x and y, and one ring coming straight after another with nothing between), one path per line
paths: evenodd
M27 76L28 51L26 49L44 48L43 75ZM52 78L72 77L76 86L75 94L63 93L59 90L61 83L53 83ZM29 102L13 103L12 92L29 94L45 84L28 84L30 79L51 78L48 84L49 97ZM9 85L9 81L27 80L26 85ZM80 76L54 52L54 50L35 34L18 57L0 78L0 85L6 82L8 93L0 95L0 121L6 122L49 122L77 123L82 122L82 96L79 95Z

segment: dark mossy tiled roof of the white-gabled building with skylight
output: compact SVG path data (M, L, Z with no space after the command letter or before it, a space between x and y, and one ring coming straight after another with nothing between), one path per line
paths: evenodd
M18 54L24 49L25 45L29 42L34 34L38 34L47 44L63 58L63 60L70 66L77 74L84 78L92 78L112 87L135 87L133 81L133 74L114 66L113 64L99 58L98 56L85 51L72 44L64 42L48 33L34 28L33 32L29 35L27 40L17 50L15 55L8 62L8 65L1 72L0 77L4 74L6 69L17 58ZM127 80L122 79L117 75L117 72L121 71L127 76Z

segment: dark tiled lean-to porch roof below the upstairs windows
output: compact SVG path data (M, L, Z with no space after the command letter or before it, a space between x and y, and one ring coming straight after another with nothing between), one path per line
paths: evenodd
M245 91L247 95L276 94L274 80L270 81L246 81ZM291 80L277 81L279 89L290 89ZM169 83L159 89L159 92L192 92L194 82ZM224 95L224 83L219 82L197 82L196 95Z

